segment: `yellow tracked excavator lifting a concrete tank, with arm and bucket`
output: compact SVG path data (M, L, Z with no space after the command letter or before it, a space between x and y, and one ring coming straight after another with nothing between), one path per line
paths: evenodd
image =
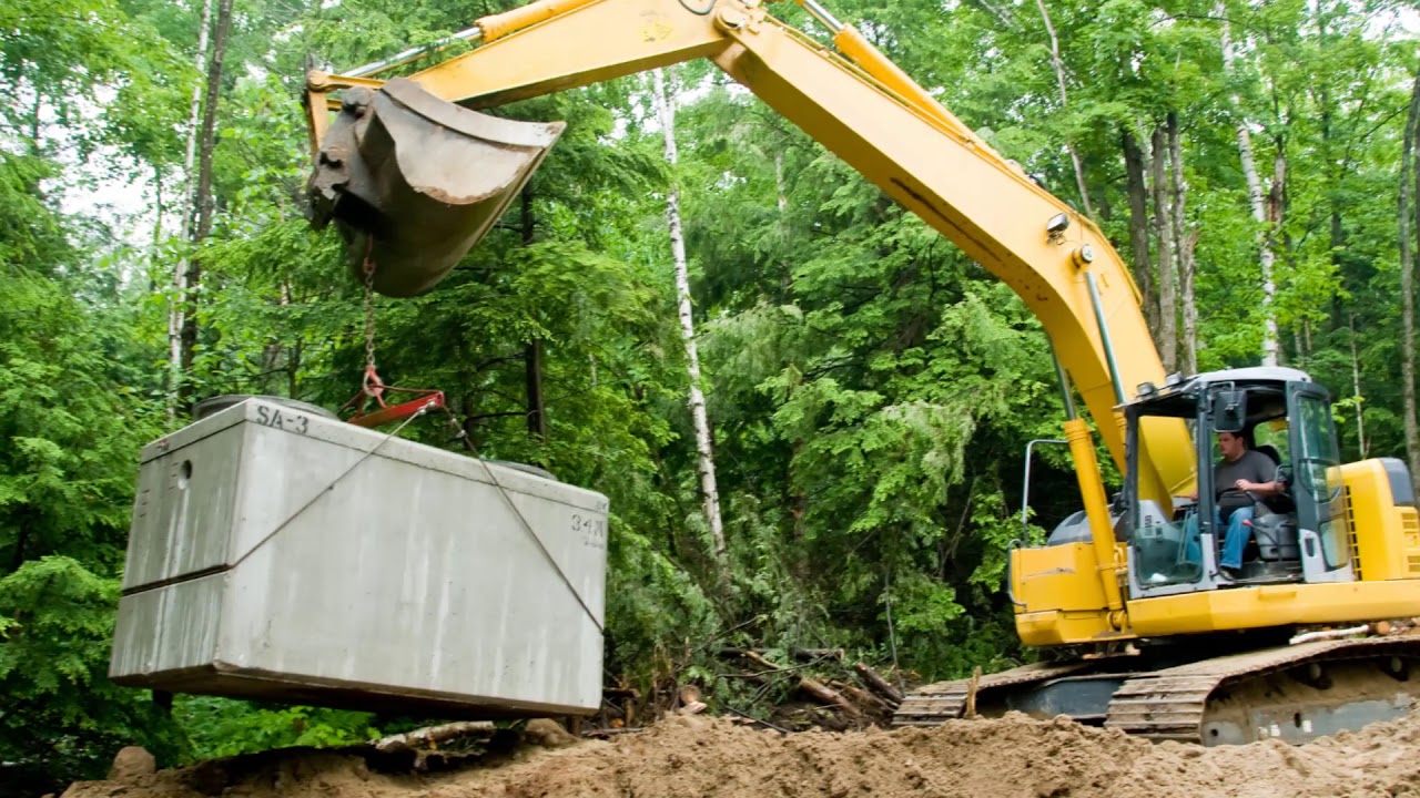
M1404 464L1343 464L1328 392L1301 371L1166 375L1099 229L858 30L799 3L828 43L761 0L541 0L345 74L312 71L312 222L335 222L376 291L426 291L562 129L477 109L707 58L1011 285L1056 354L1059 443L1083 510L1010 552L1017 629L1041 662L923 687L896 724L1020 710L1225 744L1302 741L1409 711L1420 696L1420 636L1404 633L1420 616L1420 515ZM463 43L474 47L376 77ZM1125 476L1113 498L1076 393ZM1250 496L1240 569L1220 567L1218 505L1234 488L1214 484L1214 433L1277 463L1279 490Z

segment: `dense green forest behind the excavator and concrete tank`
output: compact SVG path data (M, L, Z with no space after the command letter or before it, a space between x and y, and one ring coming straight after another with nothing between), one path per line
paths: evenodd
M109 635L139 447L204 396L335 408L358 385L364 297L304 219L304 70L506 7L0 4L0 781L37 794L124 744L172 764L412 723L203 697L168 714L105 679ZM1413 7L832 10L1100 224L1170 368L1308 369L1348 459L1420 473ZM1005 550L1027 534L1025 443L1064 413L1015 295L704 64L507 112L568 129L449 281L376 301L379 368L444 389L484 456L611 497L608 673L757 711L719 646L845 647L923 677L1028 657ZM459 446L440 423L406 434ZM1064 452L1038 457L1032 535L1076 504Z

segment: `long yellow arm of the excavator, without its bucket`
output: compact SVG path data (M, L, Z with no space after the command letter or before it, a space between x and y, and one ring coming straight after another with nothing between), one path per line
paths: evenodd
M856 30L812 0L805 6L834 33L834 47L775 20L760 0L542 0L479 20L467 38L483 44L409 80L464 108L491 108L692 58L713 61L1005 281L1044 324L1123 470L1116 406L1136 385L1164 378L1125 263L1089 219L987 146ZM308 75L312 143L321 146L321 160L348 156L331 158L331 143L321 139L327 94L351 87L358 92L381 84ZM402 153L400 160L416 156ZM321 169L318 162L315 183ZM501 185L503 204L527 175L530 169L515 185ZM339 186L324 186L327 202L338 200ZM378 237L378 227L366 224L364 231ZM467 247L457 254L463 251ZM385 268L375 261L376 270ZM1194 479L1189 436L1181 423L1159 423L1145 427L1139 443L1140 494L1170 507L1170 496ZM1108 515L1102 491L1095 493L1086 505L1102 531ZM1108 538L1112 544L1113 535Z

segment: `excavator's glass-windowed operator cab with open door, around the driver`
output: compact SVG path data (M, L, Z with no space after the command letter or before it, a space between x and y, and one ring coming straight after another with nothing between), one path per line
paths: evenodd
M1250 368L1143 386L1125 408L1130 442L1159 419L1183 419L1197 457L1197 497L1174 497L1172 511L1139 496L1139 446L1129 446L1120 540L1129 545L1136 598L1242 585L1352 581L1340 515L1340 456L1329 398L1304 372ZM1279 493L1252 494L1214 484L1218 433L1238 436L1271 461ZM1255 456L1254 456L1255 457ZM1242 507L1248 537L1242 568L1220 568L1228 515Z

